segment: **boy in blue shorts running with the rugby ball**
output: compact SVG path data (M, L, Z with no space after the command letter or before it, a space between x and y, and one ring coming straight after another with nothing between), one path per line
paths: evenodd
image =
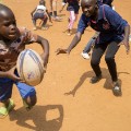
M22 83L15 68L17 57L25 45L38 43L45 50L41 55L44 66L48 63L49 44L48 40L33 34L25 27L17 28L13 12L8 7L0 4L0 117L5 117L14 103L11 98L13 84L16 85L23 104L31 109L36 104L36 92L33 86Z

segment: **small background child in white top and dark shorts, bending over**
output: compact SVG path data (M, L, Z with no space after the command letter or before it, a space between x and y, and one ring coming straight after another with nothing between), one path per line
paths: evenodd
M45 4L46 4L45 0L40 0L39 5L37 5L37 8L31 12L33 24L34 24L34 28L33 28L34 31L37 29L37 26L36 26L37 20L39 20L39 19L41 20L41 25L40 25L41 29L48 28L46 26L48 17L49 17L49 22L51 22L51 17L50 17Z

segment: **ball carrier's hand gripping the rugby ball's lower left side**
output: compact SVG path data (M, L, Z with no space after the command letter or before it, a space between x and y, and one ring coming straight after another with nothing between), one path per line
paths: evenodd
M13 67L12 69L10 69L9 71L7 71L7 78L13 80L13 81L22 81L21 78L16 76L14 74L16 67Z

